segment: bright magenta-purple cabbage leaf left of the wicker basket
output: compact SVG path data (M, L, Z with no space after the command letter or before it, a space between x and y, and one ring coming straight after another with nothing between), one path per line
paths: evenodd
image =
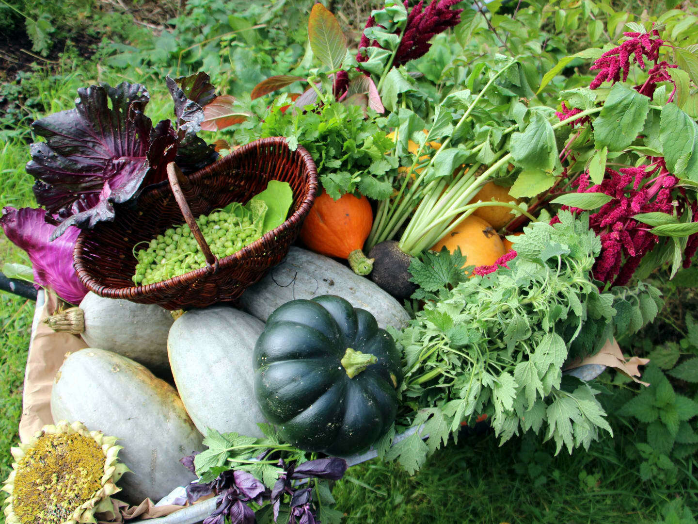
M69 228L58 240L50 242L56 226L47 224L43 209L3 208L0 225L10 242L29 255L34 282L52 289L71 304L80 303L87 294L73 268L73 249L80 230Z

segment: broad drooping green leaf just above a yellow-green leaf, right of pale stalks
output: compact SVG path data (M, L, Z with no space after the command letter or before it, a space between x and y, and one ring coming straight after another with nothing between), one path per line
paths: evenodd
M533 113L523 133L512 133L510 152L517 166L551 172L558 161L558 146L550 123Z

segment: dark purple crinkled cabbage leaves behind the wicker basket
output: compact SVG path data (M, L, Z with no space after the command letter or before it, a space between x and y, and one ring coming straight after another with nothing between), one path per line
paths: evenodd
M174 124L153 126L144 115L150 96L143 85L92 85L77 90L75 109L54 113L32 124L45 142L31 145L27 173L34 176L39 205L61 224L91 228L114 219L114 203L124 203L141 187L167 177L176 161L184 173L213 162L218 154L196 136L203 105L214 99L205 73L168 78L174 100Z

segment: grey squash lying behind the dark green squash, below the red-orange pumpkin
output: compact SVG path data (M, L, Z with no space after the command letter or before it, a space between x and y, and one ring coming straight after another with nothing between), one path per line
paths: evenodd
M341 296L371 313L381 328L403 328L410 321L398 301L371 280L327 256L293 246L279 265L242 293L238 303L244 311L267 321L282 304L319 295Z

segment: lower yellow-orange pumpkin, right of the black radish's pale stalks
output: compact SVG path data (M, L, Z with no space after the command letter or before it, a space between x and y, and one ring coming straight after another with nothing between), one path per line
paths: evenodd
M460 247L461 254L466 256L464 265L493 265L500 256L506 254L502 240L494 228L474 214L447 233L431 249L438 252L444 246L450 252Z

